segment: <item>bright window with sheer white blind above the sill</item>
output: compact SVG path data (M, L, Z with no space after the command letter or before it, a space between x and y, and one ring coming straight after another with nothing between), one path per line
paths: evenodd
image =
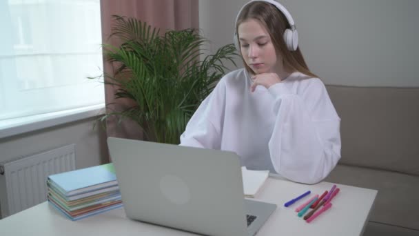
M0 0L0 121L104 103L100 0Z

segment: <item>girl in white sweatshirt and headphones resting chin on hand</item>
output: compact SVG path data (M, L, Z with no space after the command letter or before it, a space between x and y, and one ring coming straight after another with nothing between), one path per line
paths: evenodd
M276 1L250 1L234 37L245 68L218 82L181 145L233 151L247 169L292 181L321 181L340 159L340 118L307 68L291 15Z

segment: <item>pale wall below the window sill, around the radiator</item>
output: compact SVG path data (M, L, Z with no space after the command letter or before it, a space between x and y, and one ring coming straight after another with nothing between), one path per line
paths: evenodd
M96 118L74 121L70 124L0 139L0 162L41 153L68 144L76 144L77 169L104 164L108 161L105 131L98 126L94 130L92 129L94 119ZM0 176L0 181L4 181L1 177L3 176ZM1 183L0 186L2 186ZM3 194L3 189L0 191L0 194Z

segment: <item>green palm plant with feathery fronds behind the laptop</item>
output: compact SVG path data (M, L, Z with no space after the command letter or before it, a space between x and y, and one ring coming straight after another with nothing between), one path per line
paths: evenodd
M178 144L187 121L228 70L225 62L236 66L234 45L204 57L201 50L208 41L197 30L163 34L137 19L113 17L110 37L122 43L103 45L105 57L116 67L113 75L104 73L103 78L105 86L116 86L116 102L130 99L134 106L117 112L107 109L101 121L114 116L132 119L143 129L145 139Z

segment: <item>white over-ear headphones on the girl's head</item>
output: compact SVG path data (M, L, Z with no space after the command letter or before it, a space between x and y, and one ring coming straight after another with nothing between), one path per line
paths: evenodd
M280 10L281 12L283 12L283 14L285 15L285 17L288 20L289 26L291 26L289 29L286 29L284 32L284 41L287 44L287 48L290 51L295 51L297 50L298 47L298 32L294 23L294 19L292 19L291 14L289 14L288 10L285 9L284 6L280 5L280 3L278 3L277 1L274 0L252 0L252 1L265 1L267 3L271 3L272 5L276 6L276 8L278 8L278 10ZM236 17L236 22L234 23L234 28L236 28L236 24L237 24L237 19L238 16L240 15L241 11L243 10L243 8L251 3L252 1L249 1L248 3L246 3L241 9L240 11L238 11L237 17ZM234 30L234 45L236 46L237 50L240 52L240 47L238 46L238 39L237 39L237 31Z

